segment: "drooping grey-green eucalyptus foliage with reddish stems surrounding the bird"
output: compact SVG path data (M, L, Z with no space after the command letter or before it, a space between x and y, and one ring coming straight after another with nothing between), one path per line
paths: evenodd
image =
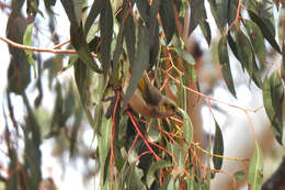
M205 3L210 5L206 11ZM283 2L283 1L282 1ZM284 96L284 18L275 26L273 7L284 14L284 3L270 0L94 0L86 7L77 0L45 0L46 14L38 9L38 0L12 0L7 24L7 36L19 44L32 45L36 16L48 16L50 31L55 30L53 7L61 3L70 22L68 48L76 55L56 54L42 63L39 54L33 51L9 46L11 62L8 70L5 144L10 158L5 187L12 189L37 189L42 180L41 149L45 137L64 137L69 143L71 155L78 145L78 131L84 119L94 130L98 148L94 154L100 163L100 186L102 189L208 189L212 172L218 172L224 145L220 128L216 122L216 137L213 142L214 167L204 167L196 158L193 142L193 125L190 120L190 82L196 80L200 65L195 55L186 49L186 38L200 26L204 38L212 44L212 29L207 14L212 13L221 34L218 43L218 58L221 74L229 92L237 97L231 74L231 53L239 60L252 82L263 91L266 113L272 122L276 139L282 143L282 101ZM21 10L26 3L25 18ZM282 5L281 5L282 4ZM191 10L189 23L183 18ZM39 13L39 15L37 14ZM248 16L247 16L248 15ZM183 29L187 26L187 29ZM280 30L278 42L276 30ZM186 34L185 32L186 31ZM58 43L54 31L53 42ZM186 36L186 37L185 37ZM282 54L281 71L271 76L266 65L267 42L275 54ZM184 44L185 43L185 44ZM69 65L62 68L62 59ZM38 97L35 105L26 93L31 83L33 66L37 79ZM58 71L73 68L75 82L64 87L56 79ZM43 89L42 74L48 70L49 88L56 93L50 126L43 128L35 112L41 105ZM123 91L124 80L130 72L130 81ZM168 83L176 87L176 97L183 124L172 119L150 120L138 115L127 107L140 78L147 71L156 76L156 86ZM262 79L263 76L265 79ZM162 90L166 93L167 90ZM26 108L25 120L20 124L14 118L11 96L21 96ZM205 98L201 96L201 98ZM79 103L80 101L80 103ZM72 120L71 127L67 124ZM44 132L48 135L44 135ZM67 135L61 133L67 131ZM14 137L12 133L14 133ZM14 144L24 142L21 155ZM90 142L91 144L92 142ZM21 159L24 158L24 159ZM205 170L203 170L203 169ZM262 154L255 142L255 152L250 165L249 183L260 187L262 181ZM202 172L202 171L205 171Z

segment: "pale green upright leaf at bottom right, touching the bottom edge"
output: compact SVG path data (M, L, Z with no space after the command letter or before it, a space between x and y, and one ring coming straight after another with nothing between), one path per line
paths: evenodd
M250 161L248 182L250 189L261 189L263 182L263 156L256 141L254 153Z

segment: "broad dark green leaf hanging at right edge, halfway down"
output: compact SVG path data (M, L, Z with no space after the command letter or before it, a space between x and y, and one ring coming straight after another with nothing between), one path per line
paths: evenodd
M265 78L263 82L263 103L266 114L273 125L273 132L280 144L283 136L283 97L284 89L278 71L274 71L270 78Z

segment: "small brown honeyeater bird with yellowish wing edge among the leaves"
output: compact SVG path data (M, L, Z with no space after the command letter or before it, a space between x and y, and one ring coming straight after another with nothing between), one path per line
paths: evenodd
M129 77L126 80L128 83ZM179 115L176 103L163 96L145 76L139 80L129 105L134 111L149 119Z

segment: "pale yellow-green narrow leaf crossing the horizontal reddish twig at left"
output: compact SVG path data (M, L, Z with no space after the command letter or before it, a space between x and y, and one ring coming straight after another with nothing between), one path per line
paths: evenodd
M33 33L33 23L29 24L26 30L25 30L25 33L24 33L24 37L23 37L23 44L24 45L27 45L27 46L33 46L33 43L32 43L32 33ZM26 53L26 58L27 58L27 62L29 64L33 67L34 69L34 76L36 76L36 70L35 70L35 60L33 58L33 51L29 51L29 49L25 49L25 53Z

